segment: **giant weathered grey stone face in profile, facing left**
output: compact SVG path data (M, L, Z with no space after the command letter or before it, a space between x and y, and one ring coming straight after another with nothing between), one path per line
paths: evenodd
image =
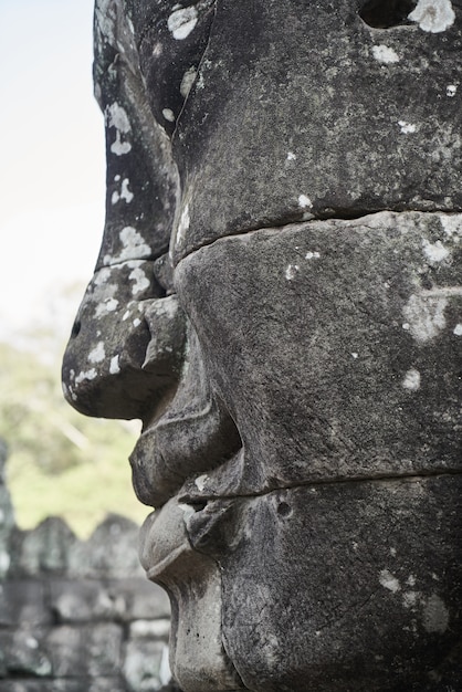
M185 692L462 686L461 50L450 0L96 2L64 388L143 419Z

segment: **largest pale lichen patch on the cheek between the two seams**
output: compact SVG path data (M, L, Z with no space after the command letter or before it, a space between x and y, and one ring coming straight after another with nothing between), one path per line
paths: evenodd
M406 319L402 328L410 332L419 344L431 342L445 327L447 305L444 295L431 295L430 292L411 295L402 308Z

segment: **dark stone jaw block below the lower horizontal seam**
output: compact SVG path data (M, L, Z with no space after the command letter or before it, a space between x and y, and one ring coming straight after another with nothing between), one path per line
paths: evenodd
M461 485L322 484L237 501L240 531L217 555L225 650L246 689L434 683L461 635Z

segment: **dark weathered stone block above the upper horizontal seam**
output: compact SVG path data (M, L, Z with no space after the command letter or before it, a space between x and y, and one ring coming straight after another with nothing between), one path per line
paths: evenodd
M363 4L216 2L174 135L178 258L304 214L462 209L459 8L433 3L448 7L434 32L417 20L370 28ZM158 32L155 41L162 45ZM195 31L178 50L200 41ZM140 54L146 75L156 60Z

